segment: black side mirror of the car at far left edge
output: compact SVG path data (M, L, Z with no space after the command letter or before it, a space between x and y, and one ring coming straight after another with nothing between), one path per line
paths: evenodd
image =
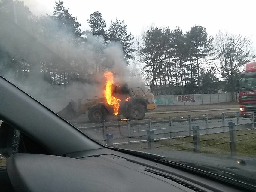
M9 124L2 122L0 127L0 152L6 159L17 153L20 132Z

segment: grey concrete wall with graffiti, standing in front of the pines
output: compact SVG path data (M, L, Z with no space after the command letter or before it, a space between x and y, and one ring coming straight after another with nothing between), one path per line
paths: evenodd
M202 105L232 101L232 93L195 95L157 95L157 105Z

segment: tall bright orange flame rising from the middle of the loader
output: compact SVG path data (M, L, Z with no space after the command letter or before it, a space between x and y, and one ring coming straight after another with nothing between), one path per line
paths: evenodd
M107 103L109 105L113 105L114 115L117 115L120 108L120 105L119 105L120 99L117 99L116 97L112 96L111 88L112 88L112 84L114 83L114 76L113 76L113 73L110 71L105 72L104 76L107 79L106 88L104 91L105 97L107 99Z

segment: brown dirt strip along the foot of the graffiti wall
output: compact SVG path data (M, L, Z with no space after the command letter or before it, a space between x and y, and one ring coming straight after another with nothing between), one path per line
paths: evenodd
M239 109L239 104L237 101L231 101L231 102L206 104L206 105L168 105L168 106L158 105L157 108L152 112L189 111L189 110L203 110L203 109L225 109L225 108Z

